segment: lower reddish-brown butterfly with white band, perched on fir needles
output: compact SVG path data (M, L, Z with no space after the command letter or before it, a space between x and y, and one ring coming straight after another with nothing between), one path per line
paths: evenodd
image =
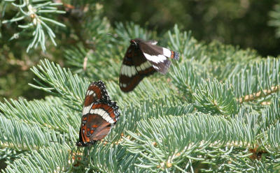
M116 102L108 96L102 81L92 82L85 94L77 146L89 146L110 133L120 116Z

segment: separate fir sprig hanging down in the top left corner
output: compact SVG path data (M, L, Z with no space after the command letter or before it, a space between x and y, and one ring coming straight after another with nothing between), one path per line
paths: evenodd
M5 0L6 2L9 2ZM59 27L66 27L64 24L57 22L56 20L52 20L48 17L44 17L45 13L57 13L62 14L65 13L62 10L58 10L55 6L62 5L61 3L52 3L51 1L29 1L23 0L22 4L11 3L15 8L18 8L19 12L15 17L10 20L3 20L3 24L18 22L20 20L25 20L27 24L19 24L18 27L22 28L22 32L15 33L10 40L18 38L22 33L26 33L27 31L32 31L32 40L27 47L27 52L31 48L36 48L37 45L41 45L41 49L45 52L45 33L48 33L50 40L54 45L55 43L55 33L48 26L47 22L55 24ZM28 23L29 22L29 23ZM29 29L29 30L27 30Z

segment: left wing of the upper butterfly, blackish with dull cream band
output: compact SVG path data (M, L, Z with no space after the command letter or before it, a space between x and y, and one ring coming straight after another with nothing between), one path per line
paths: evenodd
M130 45L120 68L120 89L124 92L132 91L144 77L152 75L155 71L141 50Z

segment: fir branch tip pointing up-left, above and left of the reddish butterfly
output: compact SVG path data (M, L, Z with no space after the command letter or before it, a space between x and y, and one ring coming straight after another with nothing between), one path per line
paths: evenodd
M29 84L31 87L42 89L55 96L61 96L69 103L69 107L73 109L81 110L81 104L85 97L85 90L90 82L85 79L81 79L78 75L72 75L70 70L61 68L58 64L50 63L47 59L41 61L42 65L38 65L38 68L33 67L31 71L43 82L49 85L47 87L38 80L35 82L39 85Z

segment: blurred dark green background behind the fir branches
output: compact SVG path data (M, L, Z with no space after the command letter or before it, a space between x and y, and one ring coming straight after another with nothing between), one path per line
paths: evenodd
M85 9L93 1L62 1L75 8L83 6ZM83 3L82 3L83 2ZM94 1L96 3L97 1ZM178 24L180 29L192 31L197 40L209 43L218 40L221 43L239 45L243 49L257 50L262 57L268 55L276 57L280 54L280 39L276 37L276 27L269 21L280 21L275 13L280 1L260 0L111 0L98 1L97 7L87 9L87 17L98 16L116 27L118 22L134 22L141 27L156 31L158 38ZM65 7L65 6L64 6ZM0 19L7 20L15 16L18 11L0 3ZM64 9L65 10L65 9ZM67 11L67 9L66 9ZM76 16L76 17L73 17ZM78 16L78 17L77 17ZM277 16L277 15L276 15ZM94 43L85 43L87 37L87 20L83 14L74 14L67 11L64 15L55 15L55 19L66 24L66 29L56 29L57 47L47 43L47 52L43 53L40 47L26 52L29 36L8 41L14 33L21 31L16 24L0 24L0 101L3 98L18 98L20 96L31 100L43 98L45 93L27 85L32 83L33 73L31 66L40 59L47 57L64 63L64 49L78 44L87 45L94 50ZM274 24L275 25L275 24ZM110 30L108 30L110 32ZM78 33L81 33L78 34ZM85 33L85 36L83 36ZM90 47L93 45L92 47ZM125 54L125 52L123 52Z

